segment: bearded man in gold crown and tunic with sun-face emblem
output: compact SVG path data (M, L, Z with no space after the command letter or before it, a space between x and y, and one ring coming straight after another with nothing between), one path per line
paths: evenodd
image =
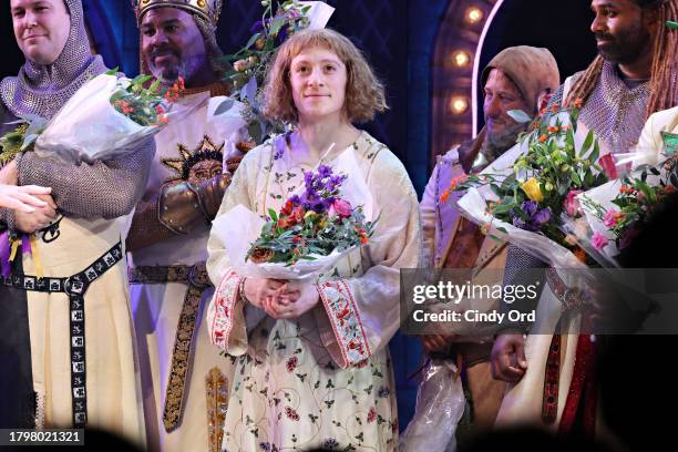
M141 68L182 88L193 109L156 136L148 185L127 249L150 450L219 450L232 362L207 337L209 224L244 143L238 109L219 113L228 86L216 43L220 0L134 0ZM236 112L236 113L234 113ZM225 162L225 163L223 163Z

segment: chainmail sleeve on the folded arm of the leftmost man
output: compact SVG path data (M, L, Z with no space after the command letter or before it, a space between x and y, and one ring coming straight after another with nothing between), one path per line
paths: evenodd
M41 158L29 152L17 157L19 185L52 187L52 197L66 216L116 218L141 201L154 155L153 138L133 153L92 165Z

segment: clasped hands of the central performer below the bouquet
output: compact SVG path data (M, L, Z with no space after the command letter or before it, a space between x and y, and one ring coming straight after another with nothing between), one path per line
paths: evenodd
M282 279L246 278L247 301L266 311L274 319L296 319L318 305L320 294L312 284Z

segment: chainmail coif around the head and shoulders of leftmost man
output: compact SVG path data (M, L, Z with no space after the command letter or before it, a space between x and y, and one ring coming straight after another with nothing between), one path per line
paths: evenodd
M0 99L17 116L51 119L90 78L106 71L101 56L92 55L81 0L64 0L71 14L71 31L63 51L50 65L29 60L18 76L0 82Z

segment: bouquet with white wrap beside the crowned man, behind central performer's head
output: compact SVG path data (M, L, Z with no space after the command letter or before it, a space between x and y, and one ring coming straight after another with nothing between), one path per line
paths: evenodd
M224 79L233 85L230 99L225 101L216 114L227 111L234 101L245 104L243 116L247 122L249 136L263 143L267 136L285 131L284 124L274 124L261 113L264 79L278 48L285 40L306 28L321 29L335 9L321 1L287 0L282 3L265 0L260 20L253 27L247 44L225 59L233 65Z

